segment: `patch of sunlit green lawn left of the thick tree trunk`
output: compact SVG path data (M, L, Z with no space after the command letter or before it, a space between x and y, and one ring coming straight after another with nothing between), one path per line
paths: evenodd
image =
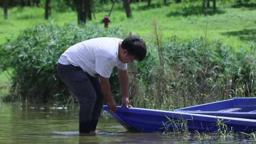
M36 24L46 24L53 21L55 24L63 25L67 22L76 22L76 13L52 12L48 20L44 19L44 9L38 7L14 7L8 10L8 19L3 19L3 9L0 8L0 45L6 42L12 36L26 29L33 27Z

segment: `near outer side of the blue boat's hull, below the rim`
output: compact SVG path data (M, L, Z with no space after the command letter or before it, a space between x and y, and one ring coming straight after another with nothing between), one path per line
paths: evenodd
M103 106L107 110L107 106ZM146 108L124 108L108 111L124 128L135 132L164 132L177 128L188 131L214 132L222 129L217 122L224 123L227 131L255 132L256 120L234 117L220 117L179 111L153 110ZM168 119L168 118L169 119ZM171 120L171 121L170 121ZM185 127L186 125L186 127ZM224 128L225 129L225 128Z

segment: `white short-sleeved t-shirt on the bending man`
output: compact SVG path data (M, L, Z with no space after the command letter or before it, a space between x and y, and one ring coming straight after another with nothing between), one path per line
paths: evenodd
M119 38L99 37L85 40L68 48L59 59L60 64L81 67L89 75L110 77L113 68L127 69L118 59Z

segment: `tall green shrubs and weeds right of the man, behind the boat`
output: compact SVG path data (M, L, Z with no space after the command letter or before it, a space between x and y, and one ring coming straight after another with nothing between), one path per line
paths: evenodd
M129 67L132 104L173 109L255 96L254 45L251 50L234 50L220 40L206 42L202 38L183 43L172 41L160 53L161 49L152 46L155 49L150 50L147 59Z

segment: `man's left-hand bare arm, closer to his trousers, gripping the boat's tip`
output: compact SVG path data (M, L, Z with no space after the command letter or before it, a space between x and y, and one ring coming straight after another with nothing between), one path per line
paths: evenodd
M116 111L117 110L116 102L112 98L112 94L110 91L109 78L100 76L100 86L101 86L101 91L106 98L108 110Z

